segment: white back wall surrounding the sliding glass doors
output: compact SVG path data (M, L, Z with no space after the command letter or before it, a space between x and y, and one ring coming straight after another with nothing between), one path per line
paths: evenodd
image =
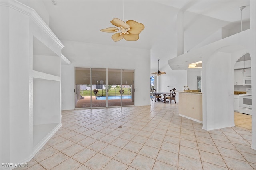
M70 60L72 66L62 66L64 68L62 80L70 82L68 84L62 82L62 102L63 105L66 104L62 109L74 109L74 74L70 72L72 67L135 70L134 105L150 105L150 50L71 41L62 41L62 43L73 46L72 49L64 48L62 51L67 59L78 49L80 51L80 54L72 56L72 59L75 58L75 60ZM71 86L72 82L73 86Z

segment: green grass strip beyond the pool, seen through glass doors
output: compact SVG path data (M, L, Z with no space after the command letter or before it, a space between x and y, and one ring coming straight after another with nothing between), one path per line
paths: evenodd
M108 96L120 96L119 90L120 88L108 90ZM130 88L129 90L127 88L123 88L123 90L124 90L124 93L122 95L131 95L132 93ZM80 90L80 95L91 96L91 90ZM92 90L92 96L94 96L93 90ZM97 96L106 96L106 90L99 89Z

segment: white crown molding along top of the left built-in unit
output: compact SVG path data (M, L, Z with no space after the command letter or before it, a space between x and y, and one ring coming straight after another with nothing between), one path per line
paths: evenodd
M48 27L48 25L42 20L42 18L37 14L37 12L22 4L21 2L18 2L16 0L9 0L9 1L0 1L1 6L6 6L9 8L12 8L14 10L17 10L19 12L22 12L23 14L26 14L30 16L32 20L35 21L35 23L44 30L44 32L49 35L49 37L61 48L63 49L64 45L62 42L56 37L56 35L52 32L52 30Z

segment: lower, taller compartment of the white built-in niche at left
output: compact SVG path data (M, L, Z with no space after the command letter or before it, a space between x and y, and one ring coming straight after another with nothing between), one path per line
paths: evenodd
M33 78L33 147L60 123L60 82Z

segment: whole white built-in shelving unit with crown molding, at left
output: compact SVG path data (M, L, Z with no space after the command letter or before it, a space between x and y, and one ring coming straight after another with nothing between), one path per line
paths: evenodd
M25 163L61 127L64 45L32 8L0 3L1 163Z

